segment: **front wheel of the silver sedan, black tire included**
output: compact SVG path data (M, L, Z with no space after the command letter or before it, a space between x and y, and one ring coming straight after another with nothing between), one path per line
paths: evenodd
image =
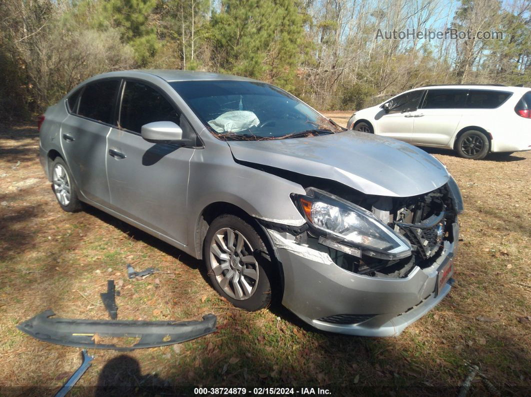
M212 286L234 306L252 312L270 304L271 258L260 235L245 220L235 215L214 219L204 239L203 258Z

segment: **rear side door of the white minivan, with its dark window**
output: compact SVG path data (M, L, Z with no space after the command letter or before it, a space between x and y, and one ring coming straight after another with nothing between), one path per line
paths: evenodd
M413 113L412 144L444 146L450 142L463 115L468 90L427 90L419 109Z

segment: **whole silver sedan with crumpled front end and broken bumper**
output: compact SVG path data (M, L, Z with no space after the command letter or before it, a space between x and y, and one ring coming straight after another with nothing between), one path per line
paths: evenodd
M59 205L91 205L203 259L213 288L314 327L393 336L452 284L459 189L433 156L346 131L249 78L98 75L39 122Z

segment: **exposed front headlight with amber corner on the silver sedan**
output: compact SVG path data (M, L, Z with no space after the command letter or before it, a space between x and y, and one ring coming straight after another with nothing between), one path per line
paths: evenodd
M393 259L411 254L409 241L365 208L314 188L307 190L307 196L297 196L297 200L311 225L341 237L362 252L386 253Z

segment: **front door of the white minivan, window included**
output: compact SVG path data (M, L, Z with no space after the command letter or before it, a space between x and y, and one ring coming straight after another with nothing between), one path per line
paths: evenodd
M423 94L424 90L416 90L391 99L389 113L383 113L377 121L376 133L410 143L413 134L413 112L417 110Z

